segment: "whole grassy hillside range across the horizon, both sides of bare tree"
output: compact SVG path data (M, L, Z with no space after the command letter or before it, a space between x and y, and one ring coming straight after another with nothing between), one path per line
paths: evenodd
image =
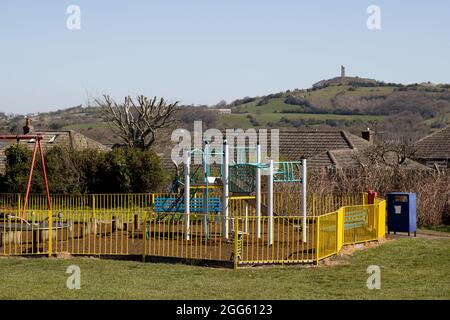
M231 108L232 114L185 106L178 116L178 126L208 119L209 127L219 128L346 129L359 134L370 127L384 136L420 138L450 123L450 85L334 78L309 89L245 97L221 107ZM20 133L23 118L0 113L0 132ZM76 130L104 144L120 142L95 107L77 106L32 118L36 130Z

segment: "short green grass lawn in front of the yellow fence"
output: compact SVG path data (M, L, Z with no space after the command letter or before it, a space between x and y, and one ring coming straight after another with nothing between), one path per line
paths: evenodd
M399 239L318 267L241 270L89 258L0 259L0 299L450 299L450 239ZM66 269L81 268L69 290ZM381 268L368 290L366 269Z

